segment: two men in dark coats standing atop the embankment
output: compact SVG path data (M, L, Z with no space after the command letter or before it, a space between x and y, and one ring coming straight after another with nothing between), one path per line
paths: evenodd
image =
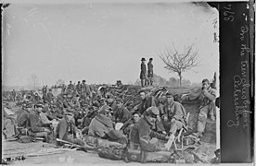
M143 57L141 58L141 65L140 65L140 80L141 80L141 87L145 87L147 85L153 85L153 58L149 58L149 62L147 66L145 64L146 59Z

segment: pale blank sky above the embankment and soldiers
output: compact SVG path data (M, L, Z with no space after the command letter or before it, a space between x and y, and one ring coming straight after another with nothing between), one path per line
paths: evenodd
M141 57L154 59L157 75L177 77L158 56L172 43L180 51L195 44L200 65L184 78L200 82L218 72L215 18L215 8L192 3L11 5L4 10L3 85L28 85L32 74L41 85L59 78L134 83Z

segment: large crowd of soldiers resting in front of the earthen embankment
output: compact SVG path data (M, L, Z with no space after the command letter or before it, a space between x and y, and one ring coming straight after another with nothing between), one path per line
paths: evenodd
M182 128L187 130L184 106L173 100L170 91L159 99L148 95L144 89L138 95L140 103L128 110L122 98L110 91L91 91L85 81L78 82L76 87L70 81L58 96L44 88L42 99L22 102L17 119L19 133L25 137L24 142L27 137L43 137L49 143L56 143L59 138L83 146L83 136L96 136L144 151L170 149L177 132ZM184 101L201 103L198 132L194 133L198 138L204 134L206 119L215 121L215 98L216 91L208 79L202 80L200 89L182 96ZM158 139L167 141L164 149L160 148Z

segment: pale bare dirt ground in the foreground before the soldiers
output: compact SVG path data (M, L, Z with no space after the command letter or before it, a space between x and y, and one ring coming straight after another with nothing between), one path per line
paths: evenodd
M48 164L133 164L135 162L125 163L123 160L107 160L100 158L96 151L83 152L80 150L55 148L55 146L43 143L19 143L4 142L3 144L3 158L24 156L25 160L15 160L11 164L24 165L48 165ZM215 148L212 144L204 144L197 150L198 154L205 160L211 160L214 155ZM40 156L40 151L44 151L45 155ZM48 152L48 153L47 153ZM47 153L47 154L46 154ZM38 156L36 156L38 155Z

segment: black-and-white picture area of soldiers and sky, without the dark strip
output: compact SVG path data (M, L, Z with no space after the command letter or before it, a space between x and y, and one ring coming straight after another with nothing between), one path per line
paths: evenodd
M221 162L216 7L46 2L2 6L2 163Z

